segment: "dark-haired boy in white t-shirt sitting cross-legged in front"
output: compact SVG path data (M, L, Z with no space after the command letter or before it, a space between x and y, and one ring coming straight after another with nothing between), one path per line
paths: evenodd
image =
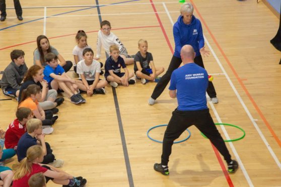
M107 81L100 79L100 62L94 60L94 52L90 48L84 49L83 56L84 60L77 64L77 73L80 77L80 80L77 80L78 88L87 91L88 96L97 93L104 94Z

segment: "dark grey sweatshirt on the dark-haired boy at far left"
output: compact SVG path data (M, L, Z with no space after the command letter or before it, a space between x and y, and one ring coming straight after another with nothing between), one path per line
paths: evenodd
M5 89L8 86L11 86L14 89L20 89L21 82L23 81L24 75L27 70L28 68L26 64L20 65L18 67L16 63L12 61L4 70L1 79L1 88Z

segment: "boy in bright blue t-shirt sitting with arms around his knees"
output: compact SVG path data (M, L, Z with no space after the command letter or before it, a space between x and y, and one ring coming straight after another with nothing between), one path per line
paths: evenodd
M57 62L57 56L48 53L45 55L45 59L48 65L45 66L43 73L49 89L62 89L74 104L85 103L86 100L78 92L76 80L66 75L64 69Z

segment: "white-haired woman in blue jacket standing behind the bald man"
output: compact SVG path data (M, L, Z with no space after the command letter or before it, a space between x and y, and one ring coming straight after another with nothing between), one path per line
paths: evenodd
M173 27L173 34L175 40L175 52L171 59L165 75L162 76L160 81L155 86L149 104L154 105L155 100L161 95L168 82L171 79L172 72L178 68L182 62L180 57L180 50L184 45L191 45L194 48L196 56L194 62L204 68L202 55L208 56L209 51L204 47L204 37L201 22L193 16L193 6L190 3L183 4L180 9L181 15ZM212 99L212 102L219 103L217 93L212 82L209 82L207 88L208 96Z

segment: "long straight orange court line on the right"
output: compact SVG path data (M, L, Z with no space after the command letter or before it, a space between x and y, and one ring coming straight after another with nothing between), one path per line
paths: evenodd
M251 96L250 92L248 91L248 89L246 88L245 84L243 83L243 81L239 78L238 73L236 72L236 70L234 69L232 63L229 61L229 59L227 58L225 52L223 51L223 49L221 48L221 46L219 45L218 41L216 40L215 36L213 35L213 33L210 31L210 29L208 28L206 22L204 21L203 17L200 15L198 9L196 8L195 4L193 3L192 0L190 0L190 2L192 3L195 11L197 12L198 16L200 17L201 22L203 22L205 28L207 29L208 33L210 34L210 36L212 37L212 39L214 40L215 44L217 45L218 49L221 51L222 55L224 56L225 60L227 61L227 64L229 65L229 67L231 68L233 74L235 75L235 77L237 78L238 82L240 83L240 85L242 86L243 90L245 91L246 95L248 96L249 100L251 101L251 103L253 104L254 108L256 109L256 111L258 112L260 118L262 119L262 121L265 123L266 127L268 128L268 130L270 131L271 135L274 137L275 141L278 143L279 147L281 147L281 141L279 140L279 138L277 137L277 135L275 134L274 130L271 128L270 124L268 123L268 121L266 120L266 118L264 117L264 115L262 114L261 110L259 109L259 107L257 106L255 100L253 99L253 97Z

